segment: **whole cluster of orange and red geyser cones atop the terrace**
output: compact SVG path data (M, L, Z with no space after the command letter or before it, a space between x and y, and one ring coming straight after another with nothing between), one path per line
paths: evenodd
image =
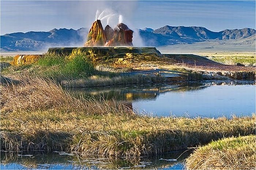
M84 47L133 46L132 34L133 31L123 23L119 23L114 29L109 25L103 29L101 20L97 20L90 28Z

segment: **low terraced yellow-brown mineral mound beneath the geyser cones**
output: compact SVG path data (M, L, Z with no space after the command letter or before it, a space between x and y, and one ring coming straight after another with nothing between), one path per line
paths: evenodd
M202 74L214 73L235 79L255 78L255 67L230 66L193 54L161 54L155 47L49 48L45 55L17 55L11 64L34 63L38 58L46 55L64 57L65 59L86 55L95 64L106 64L116 68L128 67L134 70L151 70L154 68L173 70L173 68L178 68Z

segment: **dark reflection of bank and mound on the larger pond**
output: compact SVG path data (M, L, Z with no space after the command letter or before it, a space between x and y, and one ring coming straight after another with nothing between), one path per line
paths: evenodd
M72 88L75 95L83 95L86 98L95 99L104 98L105 100L116 99L119 101L154 99L159 94L169 91L189 91L206 88L203 83L176 83L176 84L147 84L147 85L130 85L125 87L94 87L94 88Z

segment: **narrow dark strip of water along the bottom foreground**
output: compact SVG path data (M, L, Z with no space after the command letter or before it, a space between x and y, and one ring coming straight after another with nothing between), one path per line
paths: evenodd
M74 152L1 151L0 169L184 169L191 150L154 157L102 157Z

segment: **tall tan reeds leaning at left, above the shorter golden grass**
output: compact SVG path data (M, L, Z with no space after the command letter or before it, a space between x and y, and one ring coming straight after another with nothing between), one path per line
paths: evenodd
M1 84L1 112L64 110L85 111L86 114L101 114L102 110L127 113L127 108L115 102L99 102L97 100L77 99L64 91L50 79L34 77L33 79L16 74L17 84ZM114 110L112 110L114 109Z

